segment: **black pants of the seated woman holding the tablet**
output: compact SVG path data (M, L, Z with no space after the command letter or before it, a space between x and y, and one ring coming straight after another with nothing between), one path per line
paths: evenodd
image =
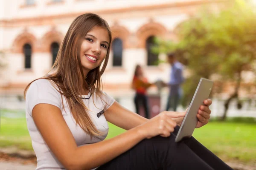
M178 129L144 139L97 170L233 170L193 137L175 143Z

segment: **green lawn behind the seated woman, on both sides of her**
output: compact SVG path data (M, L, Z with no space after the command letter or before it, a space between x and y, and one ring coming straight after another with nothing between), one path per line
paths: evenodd
M0 147L16 146L32 150L26 118L1 116ZM125 130L109 123L107 139ZM209 122L196 129L193 136L224 161L252 163L256 158L256 122Z

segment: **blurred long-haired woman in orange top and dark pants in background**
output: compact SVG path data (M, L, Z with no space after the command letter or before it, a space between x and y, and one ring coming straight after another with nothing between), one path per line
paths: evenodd
M143 71L140 65L136 65L134 71L134 78L132 80L132 88L136 91L134 97L134 104L136 108L136 113L140 114L140 107L143 106L145 117L147 119L149 116L148 109L148 96L146 90L151 86L151 83L148 83L148 79L144 77Z

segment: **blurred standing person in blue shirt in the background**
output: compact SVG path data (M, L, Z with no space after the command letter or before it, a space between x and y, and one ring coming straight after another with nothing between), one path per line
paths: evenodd
M172 71L170 74L170 82L164 83L164 86L168 86L170 89L166 111L168 111L170 108L172 108L173 111L176 111L183 93L181 89L181 84L184 81L183 65L177 61L174 53L167 54L167 61L171 64Z

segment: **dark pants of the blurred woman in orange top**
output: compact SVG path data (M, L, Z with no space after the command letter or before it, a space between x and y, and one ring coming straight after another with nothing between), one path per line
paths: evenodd
M143 106L145 117L149 119L148 96L146 96L145 94L136 93L134 97L134 103L136 107L136 113L140 114L140 106Z

